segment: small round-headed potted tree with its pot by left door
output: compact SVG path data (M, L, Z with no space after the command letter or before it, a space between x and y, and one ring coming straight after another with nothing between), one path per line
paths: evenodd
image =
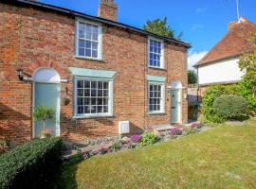
M43 131L41 132L41 138L46 138L51 136L51 129L46 129L46 120L51 119L55 111L50 107L41 105L36 107L33 112L33 117L35 121L43 122Z

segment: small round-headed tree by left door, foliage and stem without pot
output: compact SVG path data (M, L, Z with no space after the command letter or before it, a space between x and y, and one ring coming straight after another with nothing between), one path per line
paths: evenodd
M45 105L34 109L33 116L35 121L43 121L43 129L46 131L46 120L51 119L55 111Z

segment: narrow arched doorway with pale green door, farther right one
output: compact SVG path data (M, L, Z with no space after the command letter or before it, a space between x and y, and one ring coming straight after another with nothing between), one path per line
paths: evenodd
M171 84L171 124L181 123L182 84L174 81Z

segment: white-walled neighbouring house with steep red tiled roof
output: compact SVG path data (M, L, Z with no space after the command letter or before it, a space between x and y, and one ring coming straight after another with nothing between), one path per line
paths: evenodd
M236 83L244 75L238 61L241 55L253 51L251 37L256 33L256 25L241 17L229 23L228 30L224 38L194 65L198 75L198 95L203 95L207 86Z

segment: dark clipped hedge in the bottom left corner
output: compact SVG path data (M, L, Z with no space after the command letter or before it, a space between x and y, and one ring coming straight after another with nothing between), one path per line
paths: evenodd
M61 138L37 139L0 156L0 188L48 188L61 162Z

